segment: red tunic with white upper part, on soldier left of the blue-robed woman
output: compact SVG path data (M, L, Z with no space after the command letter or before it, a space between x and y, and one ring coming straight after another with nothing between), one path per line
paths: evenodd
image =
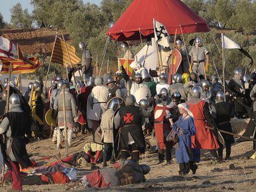
M167 106L163 106L162 104L157 104L154 110L155 116L155 133L156 140L158 142L159 149L165 149L166 137L171 132L171 126L169 125L169 121L166 119L167 111L171 112L173 110L174 104L171 102Z

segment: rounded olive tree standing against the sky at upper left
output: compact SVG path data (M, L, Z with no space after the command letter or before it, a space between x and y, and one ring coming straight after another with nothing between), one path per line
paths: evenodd
M14 28L32 28L33 19L28 13L28 9L22 9L18 2L11 9L11 24Z

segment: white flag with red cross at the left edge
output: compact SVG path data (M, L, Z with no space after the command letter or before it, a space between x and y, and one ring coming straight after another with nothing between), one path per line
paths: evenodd
M15 45L11 41L0 36L0 56L14 58Z

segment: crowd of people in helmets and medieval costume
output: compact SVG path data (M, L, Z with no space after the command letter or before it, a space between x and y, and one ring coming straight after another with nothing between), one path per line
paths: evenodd
M127 51L124 57L132 57L126 43L123 47ZM28 84L24 96L15 82L8 79L4 82L0 134L6 139L2 140L1 146L6 164L12 170L14 189L20 190L19 165L22 168L31 165L25 148L27 140L46 138L44 110L53 109L51 115L56 125L51 125L51 130L56 148L64 148L64 137L71 148L74 133L92 133L92 143L84 147L92 164L102 162L106 170L108 162L126 162L130 157L135 166L139 166L140 156L153 147L145 139L151 136L157 141L158 164L172 164L175 148L179 175L186 175L190 170L196 173L202 149L210 151L216 161L222 162L225 146L224 159L231 159L234 137L227 133L220 135L219 130L232 133L230 121L233 117L254 120L256 73L242 75L242 70L236 68L234 77L225 82L224 90L217 74L206 78L209 52L199 37L195 38L195 46L189 54L181 40L176 42L182 62L171 85L168 84L168 74L161 72L158 77L151 77L148 69L139 64L133 67L132 77L123 67L119 69L118 80L110 73L93 77L92 55L85 43L79 43L79 48L83 52L83 80L73 83L70 78L56 75L48 88L43 81L36 80ZM7 95L10 95L9 111L5 113ZM254 123L249 123L245 135L256 138L254 133ZM145 173L141 177L143 175ZM93 178L93 175L90 179L83 178L83 185L89 185Z

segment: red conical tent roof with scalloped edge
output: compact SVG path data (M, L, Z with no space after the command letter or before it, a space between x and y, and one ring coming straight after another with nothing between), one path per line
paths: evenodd
M207 22L180 0L134 0L107 35L113 40L140 40L153 36L153 19L164 24L170 35L208 32ZM140 33L139 33L140 30Z

